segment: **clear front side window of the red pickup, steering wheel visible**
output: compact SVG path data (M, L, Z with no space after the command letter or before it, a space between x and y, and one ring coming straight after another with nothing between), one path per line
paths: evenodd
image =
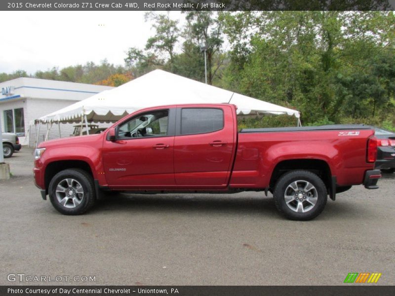
M117 138L130 139L167 136L168 121L168 110L139 114L118 126Z

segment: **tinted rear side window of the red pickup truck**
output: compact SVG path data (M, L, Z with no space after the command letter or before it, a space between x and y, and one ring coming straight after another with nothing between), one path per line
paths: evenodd
M181 135L211 133L224 128L224 111L185 108L181 111Z

